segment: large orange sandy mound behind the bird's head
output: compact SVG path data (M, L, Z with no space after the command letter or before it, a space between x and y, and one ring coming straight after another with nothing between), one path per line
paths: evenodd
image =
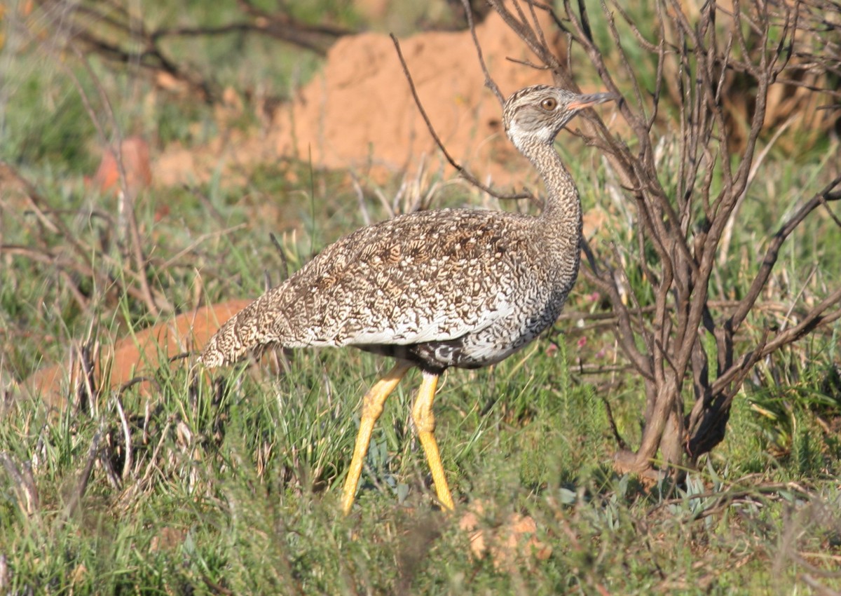
M548 21L545 30L552 31ZM514 61L533 61L516 35L492 13L477 28L489 72L506 96L551 75ZM421 102L453 157L496 184L529 173L505 139L500 104L484 88L469 31L428 32L400 42ZM362 177L436 168L442 156L411 97L387 35L348 36L331 48L325 67L294 101L274 114L264 134L232 133L198 150L172 147L158 159L158 184L203 181L215 168L231 176L279 157L310 157L317 168L352 169ZM513 176L512 172L517 173ZM453 173L452 168L447 174Z

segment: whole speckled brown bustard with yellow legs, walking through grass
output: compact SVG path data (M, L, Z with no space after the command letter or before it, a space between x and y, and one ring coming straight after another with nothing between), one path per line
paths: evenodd
M251 302L205 345L199 361L208 369L267 347L352 346L396 360L362 398L344 514L352 510L383 405L415 367L415 433L438 503L455 508L434 434L438 379L451 367L500 362L557 319L578 277L582 213L555 137L582 109L615 98L535 85L506 99L505 132L546 187L538 215L421 210L363 227Z

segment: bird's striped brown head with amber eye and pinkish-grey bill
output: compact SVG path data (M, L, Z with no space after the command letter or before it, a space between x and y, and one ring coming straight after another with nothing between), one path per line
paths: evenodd
M505 132L522 151L527 142L551 144L580 110L616 99L613 93L572 93L559 87L535 85L512 93L505 101Z

